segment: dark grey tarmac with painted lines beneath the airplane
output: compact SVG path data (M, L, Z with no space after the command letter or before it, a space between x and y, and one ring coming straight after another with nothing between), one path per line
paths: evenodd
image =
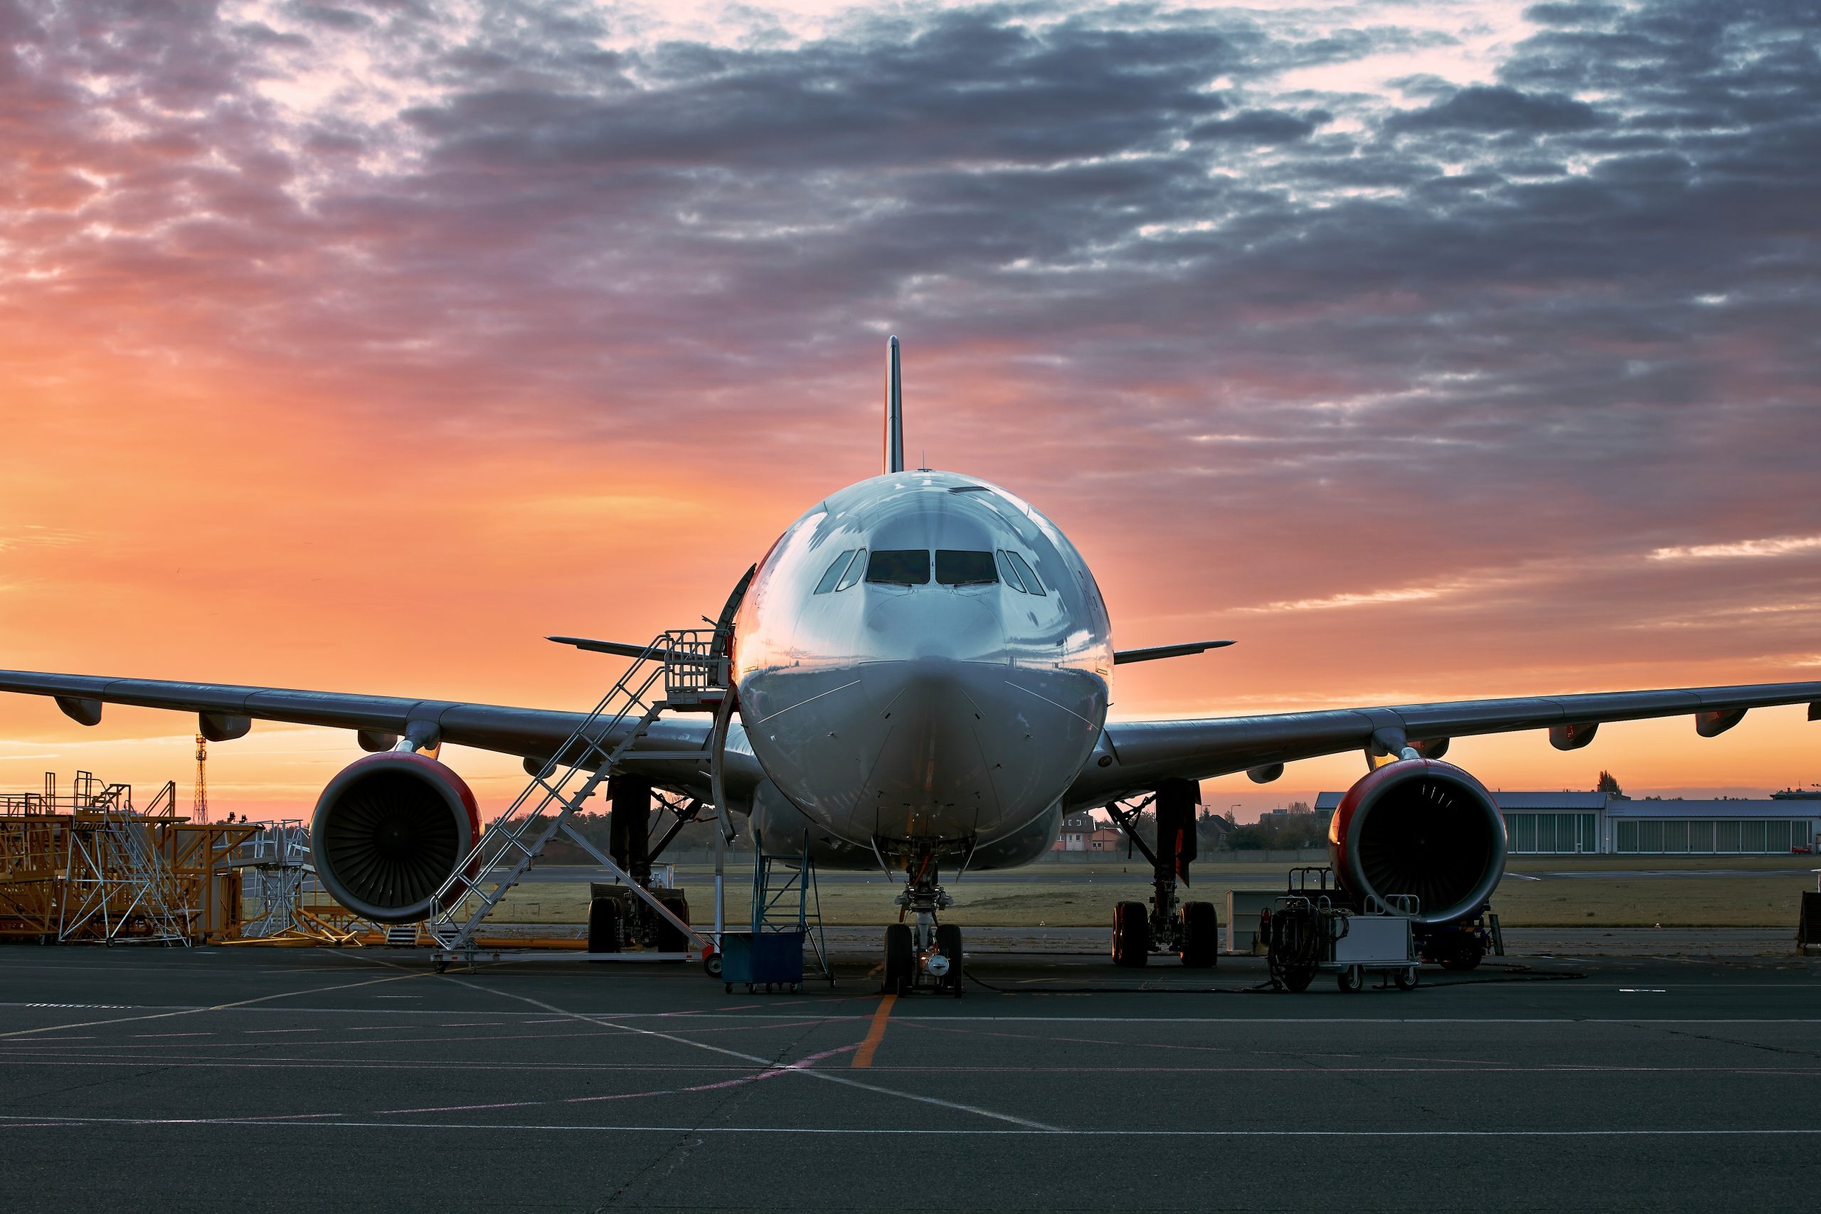
M796 994L5 946L7 1209L1808 1209L1821 959L1701 936L1508 934L1413 992L1286 994L1256 957L978 932L960 999L883 999L863 934Z

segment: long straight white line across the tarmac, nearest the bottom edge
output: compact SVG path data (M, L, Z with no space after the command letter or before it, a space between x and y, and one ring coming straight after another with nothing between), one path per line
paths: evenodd
M819 1074L801 1070L796 1074ZM1821 1138L1821 1128L1673 1128L1673 1130L1133 1130L1133 1128L912 1128L912 1127L779 1127L779 1125L526 1125L521 1121L351 1121L341 1114L288 1114L280 1118L46 1118L0 1114L13 1128L64 1128L73 1125L266 1125L284 1121L299 1128L350 1130L530 1130L550 1134L807 1134L925 1136L925 1138Z

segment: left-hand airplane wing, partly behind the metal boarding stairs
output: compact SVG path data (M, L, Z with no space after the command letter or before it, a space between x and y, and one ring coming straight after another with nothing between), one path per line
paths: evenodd
M366 750L388 750L401 735L433 732L443 743L493 750L530 761L548 759L586 715L437 699L291 692L222 683L106 679L27 670L0 670L0 692L51 695L67 717L82 724L98 724L102 704L133 704L137 708L193 712L198 715L198 730L217 741L239 737L251 721L284 721L355 730ZM708 761L708 732L710 723L705 717L659 719L639 741L643 757L626 766L648 774L659 784L688 786L690 792L696 792L696 768L707 768ZM617 739L610 737L608 741ZM743 741L736 744L730 737L730 781L743 774L734 768L750 761L750 754L736 755L736 748L745 752ZM707 786L707 777L701 783Z

